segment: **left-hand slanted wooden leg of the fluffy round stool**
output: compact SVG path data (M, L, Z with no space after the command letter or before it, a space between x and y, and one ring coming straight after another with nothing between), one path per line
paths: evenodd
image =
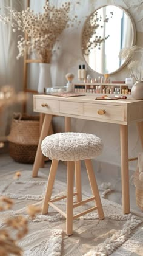
M53 184L55 181L55 176L56 176L56 170L58 168L58 160L53 159L51 168L50 168L50 173L48 176L48 184L47 184L47 189L45 192L45 199L44 199L44 204L42 206L42 214L46 214L48 212L48 201L50 201L51 195L52 195L52 189L53 189Z

